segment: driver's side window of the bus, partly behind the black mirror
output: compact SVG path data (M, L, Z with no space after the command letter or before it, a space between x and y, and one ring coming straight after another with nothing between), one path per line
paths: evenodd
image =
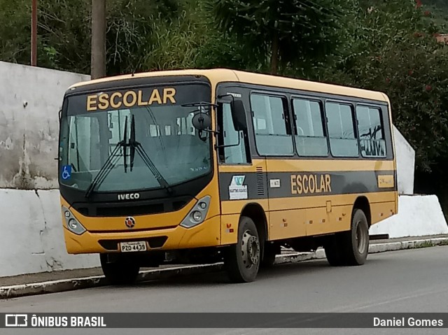
M246 154L247 138L244 136L244 131L235 129L230 104L223 104L222 113L218 113L218 124L220 145L229 145L225 148L219 148L221 162L227 164L248 163Z

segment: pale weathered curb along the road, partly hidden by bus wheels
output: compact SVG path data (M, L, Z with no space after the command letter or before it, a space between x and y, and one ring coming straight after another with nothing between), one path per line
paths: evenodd
M426 248L436 245L448 245L448 238L425 238L414 241L376 243L369 245L369 253L374 254L378 252ZM275 264L297 263L311 259L324 258L325 251L323 249L318 249L316 250L316 252L289 252L284 255L277 255ZM193 266L176 266L167 269L146 270L141 271L137 282L218 271L221 269L222 265L222 263L216 263ZM45 293L66 292L91 287L101 287L106 285L107 283L104 276L50 280L41 283L11 285L0 287L0 299L11 299Z

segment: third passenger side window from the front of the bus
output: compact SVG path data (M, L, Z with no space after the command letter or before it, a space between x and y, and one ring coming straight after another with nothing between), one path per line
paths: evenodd
M327 103L330 150L335 157L358 157L358 140L353 126L353 113L350 105Z

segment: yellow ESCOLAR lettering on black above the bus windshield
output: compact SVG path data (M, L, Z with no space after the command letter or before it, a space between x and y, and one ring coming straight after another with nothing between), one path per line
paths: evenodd
M86 104L87 111L151 106L152 104L176 104L176 89L167 87L163 89L156 88L149 92L130 90L126 92L91 94L87 95Z

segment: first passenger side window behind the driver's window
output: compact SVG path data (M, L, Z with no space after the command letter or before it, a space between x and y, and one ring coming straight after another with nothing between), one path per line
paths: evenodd
M286 100L262 94L251 95L255 141L260 155L293 155Z

